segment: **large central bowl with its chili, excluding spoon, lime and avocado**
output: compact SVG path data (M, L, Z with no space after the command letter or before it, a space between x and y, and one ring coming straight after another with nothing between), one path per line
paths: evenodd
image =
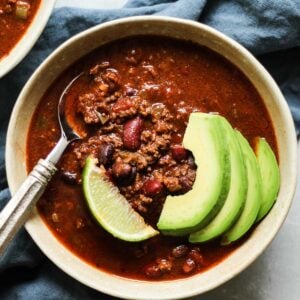
M46 156L57 142L56 104L60 92L83 71L84 76L68 93L71 104L67 110L86 138L66 151L59 174L26 223L40 249L78 281L121 298L190 297L221 285L249 266L280 229L296 185L293 120L278 86L263 66L222 33L176 18L125 18L76 35L43 62L16 102L6 144L12 193L37 159ZM97 95L106 99L105 106L99 104L91 110ZM128 244L111 237L95 223L84 201L78 171L82 170L83 158L95 148L100 149L98 159L107 164L121 193L132 199L132 207L145 218L148 215L151 223L153 215L160 212L159 205L151 208L151 203L161 197L161 186L155 180L143 187L133 186L132 176L136 185L141 185L137 178L149 178L153 175L149 172L159 174L163 170L165 193L182 194L186 192L182 189L191 188L193 157L178 144L193 111L224 115L250 143L258 135L266 137L281 173L275 205L245 238L225 248L215 242L198 247L180 237L161 235L147 244ZM126 125L124 119L133 116ZM140 122L144 127L139 144L129 139L124 151L127 141L120 128L132 129ZM152 127L156 130L154 139ZM112 151L120 159L111 167L108 156L102 154ZM142 157L151 151L159 157L154 165L149 162L152 157ZM128 163L132 161L135 170ZM185 183L176 184L182 177ZM189 253L188 258L184 252ZM191 260L198 262L196 269L191 267Z

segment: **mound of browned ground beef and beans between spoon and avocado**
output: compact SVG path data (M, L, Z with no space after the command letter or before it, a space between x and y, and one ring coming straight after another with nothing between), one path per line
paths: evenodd
M137 65L134 57L128 63ZM157 76L150 65L142 67L151 77ZM90 89L78 96L76 110L91 132L75 145L77 163L83 166L91 154L98 158L120 192L144 216L161 208L167 195L190 190L196 166L191 153L174 142L178 117L162 102L153 101L165 87L124 84L108 62L93 66L89 74Z

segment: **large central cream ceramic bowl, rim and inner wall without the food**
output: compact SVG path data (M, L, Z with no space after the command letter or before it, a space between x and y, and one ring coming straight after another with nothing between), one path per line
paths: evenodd
M12 193L15 193L26 176L25 144L30 119L41 96L53 80L65 68L91 50L109 41L137 34L171 36L205 45L225 56L252 81L262 96L275 127L281 171L281 189L277 202L253 234L228 258L205 273L174 281L145 282L125 279L90 266L54 237L36 211L26 223L26 229L42 251L58 267L96 290L131 299L183 298L215 288L249 266L278 232L294 194L297 147L289 108L272 77L241 45L205 25L167 17L144 16L120 19L76 35L44 61L18 98L7 136L7 176L9 187Z

